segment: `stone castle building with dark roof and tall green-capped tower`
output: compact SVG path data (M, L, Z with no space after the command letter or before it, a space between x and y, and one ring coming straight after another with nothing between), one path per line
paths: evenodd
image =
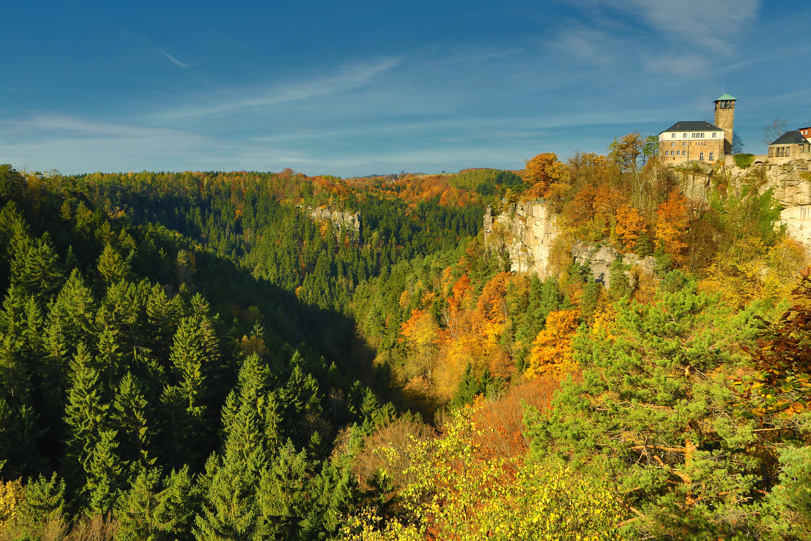
M737 98L724 94L714 101L715 123L676 122L659 134L662 161L715 161L732 154L732 127Z

